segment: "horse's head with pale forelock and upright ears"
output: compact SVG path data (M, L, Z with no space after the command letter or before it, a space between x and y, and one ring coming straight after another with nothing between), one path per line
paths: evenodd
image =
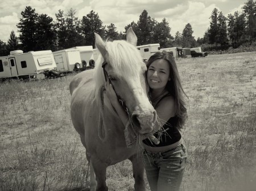
M156 122L155 109L148 99L146 82L147 67L136 48L137 37L131 27L127 30L126 40L106 41L96 33L96 46L104 60L98 66L103 75L112 83L118 97L129 111L130 122L140 134L151 133ZM98 63L99 64L99 63ZM102 77L102 79L104 79ZM102 84L105 80L102 81Z

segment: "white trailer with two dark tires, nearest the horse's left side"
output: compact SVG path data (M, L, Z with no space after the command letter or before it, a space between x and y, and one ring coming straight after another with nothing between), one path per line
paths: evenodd
M80 51L82 67L94 66L95 62L94 62L94 57L93 57L93 47L92 46L76 46L76 47L68 48L68 49L77 49Z

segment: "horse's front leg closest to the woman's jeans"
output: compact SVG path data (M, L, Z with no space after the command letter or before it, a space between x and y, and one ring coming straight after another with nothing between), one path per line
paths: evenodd
M134 154L129 158L133 164L133 177L135 180L134 189L135 191L145 191L146 185L144 181L144 164L142 157L139 154Z

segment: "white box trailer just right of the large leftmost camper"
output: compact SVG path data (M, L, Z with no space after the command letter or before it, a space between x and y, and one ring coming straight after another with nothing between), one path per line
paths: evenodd
M77 49L65 49L53 52L57 65L57 71L65 73L79 69L81 65L80 51Z

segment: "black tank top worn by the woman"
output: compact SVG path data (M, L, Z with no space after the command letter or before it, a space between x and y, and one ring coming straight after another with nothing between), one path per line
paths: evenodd
M158 103L164 98L170 95L163 96ZM157 103L157 104L158 104ZM157 105L156 104L156 105ZM155 143L151 142L150 139L144 139L143 143L147 146L151 147L162 147L171 145L173 143L176 143L181 139L180 131L177 129L177 121L179 118L177 116L170 117L169 120L162 126L162 128L159 131L156 131L154 136L158 139L160 139L160 143L158 145L155 145Z

